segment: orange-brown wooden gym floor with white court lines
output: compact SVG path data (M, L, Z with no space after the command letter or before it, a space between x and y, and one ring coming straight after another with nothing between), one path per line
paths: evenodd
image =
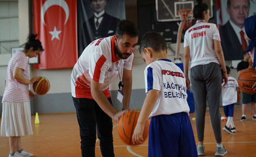
M222 130L222 141L227 149L225 157L249 157L256 156L256 120L252 120L250 106L247 109L247 120L240 121L241 106L235 106L234 123L237 132L228 134ZM223 107L220 107L221 115L224 116ZM190 113L190 119L194 131L196 143L197 134L195 121L192 118L195 113ZM215 138L211 126L209 110L205 117L205 157L214 156ZM1 117L0 117L1 119ZM39 113L40 124L35 125L35 115L31 116L33 135L21 137L21 146L25 151L34 154L34 157L78 157L81 156L79 127L75 113L42 114ZM226 122L221 122L224 127ZM116 157L145 157L147 156L148 140L142 145L128 146L122 143L117 134L117 122L113 122L114 153ZM100 157L99 140L96 141L96 156ZM7 137L0 137L0 156L7 157L9 154L9 142Z

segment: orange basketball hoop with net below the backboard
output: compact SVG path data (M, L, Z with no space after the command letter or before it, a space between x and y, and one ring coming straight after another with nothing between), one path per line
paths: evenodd
M192 26L193 9L180 9L177 14L180 16L181 22L184 23L184 30Z

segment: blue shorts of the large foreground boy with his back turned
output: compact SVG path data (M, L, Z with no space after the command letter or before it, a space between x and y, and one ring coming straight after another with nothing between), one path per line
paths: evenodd
M148 157L198 157L189 116L185 112L151 118Z

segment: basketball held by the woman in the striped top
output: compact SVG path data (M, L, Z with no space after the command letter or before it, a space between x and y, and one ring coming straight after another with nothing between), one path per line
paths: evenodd
M47 78L41 77L39 81L33 83L33 90L38 95L46 94L50 89L50 83Z

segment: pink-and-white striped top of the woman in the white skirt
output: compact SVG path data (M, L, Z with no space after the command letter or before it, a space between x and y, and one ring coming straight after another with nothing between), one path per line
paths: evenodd
M28 58L23 52L18 51L8 63L2 102L29 102L29 85L22 84L13 77L16 67L24 69L22 75L29 80Z

